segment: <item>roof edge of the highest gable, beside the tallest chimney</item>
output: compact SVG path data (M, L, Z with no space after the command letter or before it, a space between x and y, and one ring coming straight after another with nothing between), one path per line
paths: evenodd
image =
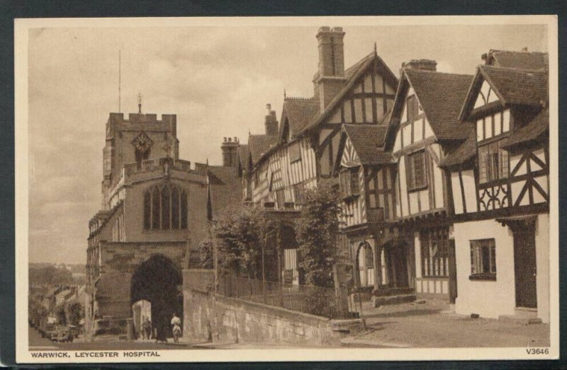
M362 58L359 62L357 62L357 64L354 64L352 67L344 71L344 77L345 79L347 79L347 82L345 83L342 90L339 91L339 93L337 93L337 96L335 96L335 98L331 100L329 105L327 105L327 108L325 108L323 112L320 112L320 115L313 117L313 120L310 120L308 125L301 132L298 132L296 134L301 134L307 130L318 127L321 122L323 122L329 115L331 115L337 105L339 105L339 103L342 101L344 96L347 95L347 93L349 93L352 88L354 88L354 85L357 83L359 76L361 76L361 74L366 71L367 67L374 64L375 61L379 66L381 66L381 69L384 71L383 77L384 79L386 79L386 81L390 81L392 84L398 82L398 79L392 73L391 69L388 68L382 58L378 57L378 54L376 54L376 52L371 52L371 54L366 55L366 57Z

